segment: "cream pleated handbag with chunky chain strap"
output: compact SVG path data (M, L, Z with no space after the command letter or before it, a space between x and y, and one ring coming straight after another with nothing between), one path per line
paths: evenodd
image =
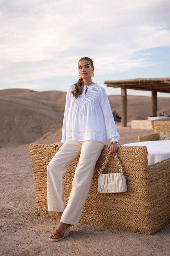
M125 173L120 164L117 153L115 158L117 160L117 165L119 167L119 173L111 174L102 174L102 171L105 169L105 165L108 162L110 152L107 153L105 162L103 163L100 171L98 171L98 192L99 193L120 193L127 191Z

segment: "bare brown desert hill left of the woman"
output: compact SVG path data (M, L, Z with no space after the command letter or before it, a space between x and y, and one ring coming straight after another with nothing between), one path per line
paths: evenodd
M63 121L65 92L0 91L0 146L32 142Z

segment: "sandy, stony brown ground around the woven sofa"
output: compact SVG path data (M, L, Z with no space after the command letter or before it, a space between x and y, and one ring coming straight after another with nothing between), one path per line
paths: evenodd
M121 144L150 131L118 128ZM48 237L56 219L36 216L36 197L29 144L0 149L2 256L165 256L169 255L170 224L143 235L79 224L60 242Z

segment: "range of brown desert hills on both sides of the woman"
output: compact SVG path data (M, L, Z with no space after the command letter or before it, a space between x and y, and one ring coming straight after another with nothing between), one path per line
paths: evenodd
M40 137L60 136L66 93L29 89L0 90L0 146L16 146ZM121 116L121 95L108 96L112 110ZM170 98L158 98L158 111L170 115ZM151 98L128 96L128 122L146 119L151 113ZM54 129L54 130L53 130Z

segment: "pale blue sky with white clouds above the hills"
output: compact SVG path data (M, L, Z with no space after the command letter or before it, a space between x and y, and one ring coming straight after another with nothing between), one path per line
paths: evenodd
M0 0L0 24L0 89L67 91L85 56L107 95L105 80L170 77L170 0Z

